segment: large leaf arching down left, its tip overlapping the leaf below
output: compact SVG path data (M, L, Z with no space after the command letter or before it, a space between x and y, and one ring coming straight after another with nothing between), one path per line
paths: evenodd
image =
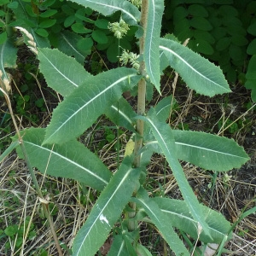
M139 79L136 70L125 67L87 79L54 110L44 143L63 143L79 137Z

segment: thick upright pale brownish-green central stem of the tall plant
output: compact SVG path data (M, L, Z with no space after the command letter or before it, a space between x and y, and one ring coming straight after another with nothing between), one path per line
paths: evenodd
M142 2L142 9L141 9L141 26L143 27L144 33L143 37L140 38L140 55L144 53L144 44L145 44L145 31L147 27L147 16L148 16L148 0L143 0ZM145 72L145 63L141 61L139 72L143 75L143 79L141 79L138 83L138 92L137 92L137 114L143 115L145 113L145 98L146 98L146 72ZM140 149L143 147L143 130L144 130L144 122L143 120L137 119L136 125L138 136L135 138L135 146L134 146L134 166L140 166L141 154ZM134 194L136 194L135 191ZM132 212L128 213L129 218L131 220L128 223L129 230L136 230L137 229L137 221L133 220L132 218L136 215L136 204L130 203L130 207L133 210Z

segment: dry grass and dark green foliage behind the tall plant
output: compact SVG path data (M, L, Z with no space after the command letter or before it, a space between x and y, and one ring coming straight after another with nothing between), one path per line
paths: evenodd
M174 33L181 42L190 38L188 47L219 65L234 92L208 99L184 86L173 88L175 73L170 68L165 70L161 79L162 96L170 91L175 96L174 111L169 120L172 127L232 137L251 156L250 162L240 172L232 170L221 175L196 169L190 164L183 165L198 199L236 223L243 208L255 204L256 1L190 0L165 1L165 4L162 36ZM38 61L26 48L24 38L15 26L25 27L31 32L39 47L60 49L93 74L117 67L117 56L122 49L137 51L137 27L131 26L124 38L114 37L108 28L109 22L119 20L119 13L106 18L77 3L59 0L6 0L1 2L1 7L0 48L4 54L1 55L0 70L3 72L2 79L12 79L9 90L20 129L48 125L52 110L62 98L46 86L44 77L38 73ZM179 79L177 84L183 84L183 81ZM126 99L129 100L132 93L127 93ZM153 89L148 90L147 95L152 106L161 100ZM1 100L0 114L0 151L3 152L14 132L4 100ZM129 137L128 131L117 130L108 119L101 118L79 141L101 155L110 170L115 170L116 149L124 152ZM44 212L34 203L37 195L27 175L26 165L11 154L0 168L1 253L56 254L49 226L44 221ZM147 180L148 189L154 195L168 194L172 198L180 198L177 183L169 171L165 160L155 154ZM84 212L90 210L98 195L83 183L44 177L39 172L37 175L44 196L51 201L49 209L58 238L65 241L61 246L68 251L73 234L84 223ZM160 185L163 181L164 186ZM238 224L235 239L230 241L227 250L244 255L254 253L255 224L254 215ZM167 252L166 244L152 226L145 226L141 237L155 255ZM102 248L103 255L108 252L106 247L109 243L111 241L107 241ZM229 254L229 251L226 253Z

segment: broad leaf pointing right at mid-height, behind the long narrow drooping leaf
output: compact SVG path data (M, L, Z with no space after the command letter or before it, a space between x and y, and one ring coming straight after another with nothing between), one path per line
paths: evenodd
M213 171L239 168L248 155L234 140L200 131L172 131L177 158Z

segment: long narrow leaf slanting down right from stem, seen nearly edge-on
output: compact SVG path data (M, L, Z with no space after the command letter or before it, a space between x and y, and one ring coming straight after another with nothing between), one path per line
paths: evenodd
M169 125L164 122L160 122L155 113L151 113L150 116L147 117L140 117L140 119L145 120L148 125L150 125L155 139L158 141L162 152L166 156L166 160L169 166L172 169L172 173L177 180L177 184L179 189L182 192L183 199L188 204L189 210L195 221L201 225L202 230L204 230L207 235L209 235L209 230L207 223L205 221L204 215L200 210L199 202L197 201L193 190L189 186L188 180L184 175L183 168L180 165L179 161L177 160L176 155L176 146L174 137L172 136L172 129Z

